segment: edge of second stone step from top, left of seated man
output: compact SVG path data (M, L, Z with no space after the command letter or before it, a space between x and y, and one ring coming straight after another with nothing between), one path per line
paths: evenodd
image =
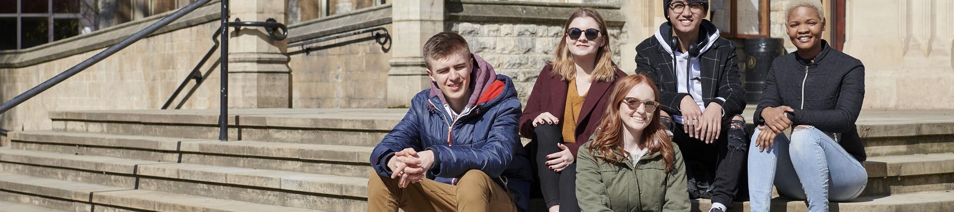
M266 159L295 159L313 162L332 161L368 165L374 147L266 142L254 140L219 141L217 139L119 136L55 131L10 133L11 142L51 145L79 145L93 148L159 151L170 154L239 156ZM103 143L100 143L103 142ZM238 148L236 150L235 148Z

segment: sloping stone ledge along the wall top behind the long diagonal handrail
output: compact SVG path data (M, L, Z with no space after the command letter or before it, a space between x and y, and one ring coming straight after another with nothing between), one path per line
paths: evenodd
M186 14L166 27L153 32L150 36L218 20L220 16L218 2L218 0L214 0L198 8L196 11ZM140 20L123 23L88 34L76 35L24 50L0 51L0 68L27 67L74 54L108 48L173 12L175 11L166 11Z

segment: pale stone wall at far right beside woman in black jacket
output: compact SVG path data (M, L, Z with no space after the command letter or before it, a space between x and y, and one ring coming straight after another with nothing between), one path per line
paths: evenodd
M863 108L954 109L947 0L848 0L844 53L864 63Z

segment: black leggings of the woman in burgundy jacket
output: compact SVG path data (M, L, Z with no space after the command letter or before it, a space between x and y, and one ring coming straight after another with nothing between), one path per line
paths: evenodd
M535 150L537 176L540 178L540 190L547 206L560 204L560 211L580 211L576 202L576 163L572 163L559 173L550 170L546 163L547 155L560 152L556 143L563 142L563 129L559 125L539 124L533 129L532 148Z

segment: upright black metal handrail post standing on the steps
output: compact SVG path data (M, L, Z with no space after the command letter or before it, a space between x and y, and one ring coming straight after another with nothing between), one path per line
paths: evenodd
M229 0L222 0L221 18L218 20L222 31L219 55L219 99L218 99L218 140L229 140Z

